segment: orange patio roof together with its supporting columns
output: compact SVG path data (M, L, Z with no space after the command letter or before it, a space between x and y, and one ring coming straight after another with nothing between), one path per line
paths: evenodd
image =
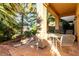
M74 31L79 42L79 3L43 3L37 4L38 14L42 17L41 34L46 36L47 33L47 11L55 16L55 29L60 30L60 18L64 16L75 15ZM44 37L42 36L42 37Z

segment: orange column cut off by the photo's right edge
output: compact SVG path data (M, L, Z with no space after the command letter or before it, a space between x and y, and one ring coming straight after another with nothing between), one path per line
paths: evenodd
M77 35L77 41L78 41L78 44L79 44L79 4L77 4L77 10L76 10L76 27L75 27L75 31L76 31L76 35Z

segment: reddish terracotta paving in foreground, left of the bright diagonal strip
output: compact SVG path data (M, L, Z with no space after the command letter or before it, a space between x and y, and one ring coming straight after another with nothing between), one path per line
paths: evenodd
M51 56L52 54L50 47L44 49L38 49L35 46L29 45L21 45L18 47L12 46L11 42L8 44L1 44L0 45L0 55L12 55L12 56ZM44 44L48 45L48 42L43 42Z

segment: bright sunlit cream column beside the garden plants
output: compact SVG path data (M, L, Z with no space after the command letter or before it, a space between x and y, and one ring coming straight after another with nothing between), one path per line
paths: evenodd
M37 13L41 18L40 38L47 39L47 8L43 5L43 3L37 4Z

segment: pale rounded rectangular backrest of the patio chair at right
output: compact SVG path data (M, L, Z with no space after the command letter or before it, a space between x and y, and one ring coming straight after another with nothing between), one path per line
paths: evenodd
M65 34L61 36L62 46L70 46L74 43L75 36L72 34Z

